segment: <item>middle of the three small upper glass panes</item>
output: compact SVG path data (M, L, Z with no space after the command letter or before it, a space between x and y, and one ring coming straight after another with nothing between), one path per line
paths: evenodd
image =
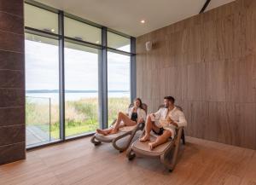
M79 20L65 17L64 30L65 36L69 38L76 38L90 43L102 43L102 30Z

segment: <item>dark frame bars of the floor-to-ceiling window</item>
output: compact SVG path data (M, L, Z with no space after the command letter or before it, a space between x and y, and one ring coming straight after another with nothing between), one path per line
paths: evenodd
M136 97L136 38L133 38L125 33L115 31L111 28L108 28L106 26L102 26L99 24L96 24L90 20L85 20L83 18L80 18L76 15L69 14L67 12L63 12L60 9L54 9L52 7L49 7L43 3L38 3L33 0L25 0L24 3L30 4L32 6L38 7L40 9L45 9L50 12L53 12L57 14L58 16L58 34L53 32L45 32L43 30L38 30L33 27L25 26L25 32L32 33L38 36L47 37L47 38L55 38L59 40L59 96L60 96L60 140L55 142L49 142L44 145L39 145L35 147L27 147L27 149L34 149L37 147L44 147L49 146L51 144L59 143L59 142L66 142L73 139L79 139L84 136L92 136L95 132L86 133L83 136L74 136L66 138L65 136L65 69L64 69L64 43L70 42L70 43L76 43L81 44L87 47L99 49L99 61L98 61L98 99L99 99L99 124L100 127L105 129L108 127L108 51L111 51L113 53L118 53L120 55L129 55L130 56L130 86L131 86L131 97L130 101L132 101ZM25 13L26 14L26 13ZM80 22L83 22L84 24L88 24L90 26L95 26L97 28L102 29L102 43L90 43L87 41L82 41L75 38L69 38L65 36L64 32L64 17L71 18L73 20L78 20ZM113 49L111 47L108 47L108 32L113 32L115 34L118 34L119 36L130 38L131 39L131 52L125 52L123 50L119 49Z

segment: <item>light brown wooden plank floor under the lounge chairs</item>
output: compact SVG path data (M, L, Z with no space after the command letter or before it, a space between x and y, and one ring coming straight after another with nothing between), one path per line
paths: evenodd
M169 173L159 159L128 161L110 144L94 147L85 138L28 152L26 160L0 166L0 184L256 185L256 151L188 137Z

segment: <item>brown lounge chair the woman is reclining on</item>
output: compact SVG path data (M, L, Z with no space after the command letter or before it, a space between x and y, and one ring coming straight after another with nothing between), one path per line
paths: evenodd
M131 104L129 107L132 107L133 104ZM147 113L148 106L143 103L143 109ZM113 121L112 124L114 124L116 119ZM95 146L100 145L102 142L112 142L112 145L115 149L119 150L119 152L125 151L131 144L131 141L133 137L136 135L138 130L143 130L144 123L137 124L134 126L125 126L123 128L120 128L119 131L116 134L104 136L102 134L96 133L94 136L91 137L90 142L92 142ZM128 141L125 143L123 147L118 146L117 142L124 138L125 136L129 136Z

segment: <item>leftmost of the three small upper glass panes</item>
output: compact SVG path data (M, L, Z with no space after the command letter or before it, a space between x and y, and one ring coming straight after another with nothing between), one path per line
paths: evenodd
M58 33L58 14L24 4L25 26Z

